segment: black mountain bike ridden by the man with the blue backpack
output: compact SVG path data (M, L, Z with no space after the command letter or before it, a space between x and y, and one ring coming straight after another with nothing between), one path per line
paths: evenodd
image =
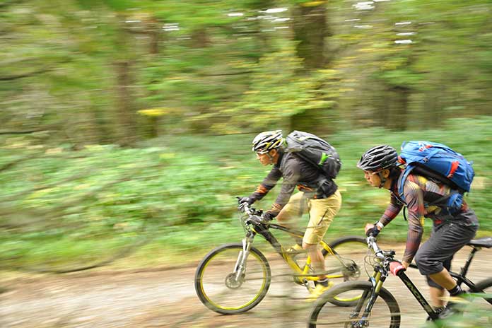
M423 310L427 312L428 320L438 320L438 312L433 310L433 307L429 305L411 279L406 276L404 266L394 259L395 252L393 250L381 250L377 246L376 239L372 236L367 238L367 244L370 249L374 250L374 259L370 263L374 268L374 272L369 281L349 281L325 292L316 300L310 313L307 327L398 328L401 322L399 305L394 296L386 288L382 287L389 271L398 276L405 286L409 288L411 294L422 305ZM450 274L456 279L459 286L463 283L468 286L469 293L478 293L470 295L474 297L474 305L488 307L492 305L492 278L473 283L467 279L467 272L475 253L481 248L492 247L492 238L472 240L468 245L472 247L472 250L469 253L467 262L459 274L451 271ZM416 265L411 264L411 267L416 268ZM346 311L340 307L333 308L327 305L332 298L347 298L350 295L361 294L362 296L357 300L355 307L350 307ZM492 307L490 310L492 310ZM486 317L485 320L487 320L487 324L484 327L492 327L492 317Z

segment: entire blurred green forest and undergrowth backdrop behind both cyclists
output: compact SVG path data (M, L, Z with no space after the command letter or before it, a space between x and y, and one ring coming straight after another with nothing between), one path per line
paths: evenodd
M1 269L176 265L239 241L266 129L338 149L327 238L385 209L361 153L410 139L474 160L467 201L492 231L488 1L4 0L0 45Z

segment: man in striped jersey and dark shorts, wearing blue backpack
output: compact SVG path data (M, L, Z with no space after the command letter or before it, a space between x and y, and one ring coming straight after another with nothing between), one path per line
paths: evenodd
M402 264L408 267L412 259L421 274L426 275L430 286L430 298L436 309L443 310L445 290L451 296L463 293L448 270L454 254L474 238L479 227L478 219L464 201L461 209L450 212L440 201L454 192L441 182L422 175L410 174L404 182L404 199L398 195L398 180L402 174L398 154L391 146L381 145L366 151L358 168L364 171L365 179L373 187L388 189L391 198L387 209L375 224L365 226L366 233L377 235L407 206L409 230ZM433 220L430 238L419 248L423 234L424 218ZM446 317L455 303L448 303L442 313Z

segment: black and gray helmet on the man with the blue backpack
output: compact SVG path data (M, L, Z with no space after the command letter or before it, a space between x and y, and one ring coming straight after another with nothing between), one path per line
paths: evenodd
M365 171L380 171L398 165L397 151L388 145L370 148L357 163L357 167Z

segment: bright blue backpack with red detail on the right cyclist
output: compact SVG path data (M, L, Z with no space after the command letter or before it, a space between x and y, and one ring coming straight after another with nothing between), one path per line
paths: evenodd
M470 191L475 172L472 162L450 147L430 141L409 141L402 144L399 163L405 170L398 180L399 198L404 200L403 189L411 172L437 180L455 190L450 195L435 201L447 208L449 213L458 211L463 203L463 194ZM436 204L436 205L438 205Z

